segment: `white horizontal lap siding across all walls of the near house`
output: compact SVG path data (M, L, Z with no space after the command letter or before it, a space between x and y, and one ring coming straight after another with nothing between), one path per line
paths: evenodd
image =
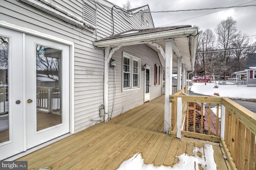
M74 42L74 116L76 133L94 125L96 121L93 120L102 119L102 117L99 117L99 107L103 104L104 51L94 48L93 41L112 35L111 8L90 0L50 0L50 2L79 18L83 18L83 3L86 2L97 10L97 33L76 27L28 4L24 4L24 2L16 0L1 1L0 20ZM113 18L114 33L120 33L132 28L146 28L145 25L140 24L140 14L130 17L114 10ZM152 27L152 24L150 27ZM150 60L156 60L151 63L157 63L156 53L146 45L122 47L122 50L136 57L140 57L142 59L141 64L148 63L146 57L149 55L153 55ZM122 63L122 50L116 51L113 55L118 64ZM116 66L116 99L113 115L118 115L130 108L143 104L144 98L144 72L141 72L140 75L140 90L122 92L121 66ZM151 72L153 75L154 70L151 70ZM114 99L114 70L110 70L109 78L109 108L111 110ZM159 89L156 89L154 90L152 88L150 99L160 95L160 93L158 94ZM133 93L136 93L136 98L132 98L134 96ZM133 101L132 104L131 101Z

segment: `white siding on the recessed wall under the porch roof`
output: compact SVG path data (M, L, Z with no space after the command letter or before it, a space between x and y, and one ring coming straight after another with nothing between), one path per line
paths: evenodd
M117 63L115 66L116 83L114 80L114 70L109 69L108 113L112 114L112 118L119 115L121 111L125 112L144 104L144 71L140 71L140 89L122 92L122 51L140 58L140 65L146 63L147 66L150 66L150 100L161 95L161 86L154 86L154 64L160 65L157 53L143 44L121 47L112 55L112 59Z

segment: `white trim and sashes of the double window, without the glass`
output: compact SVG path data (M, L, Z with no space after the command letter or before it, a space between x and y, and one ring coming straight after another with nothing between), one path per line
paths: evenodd
M130 87L124 88L124 57L130 59ZM138 61L138 86L133 86L133 61ZM133 55L130 55L126 52L123 52L122 55L122 92L130 91L130 90L138 90L140 89L140 73L141 73L141 61L138 57L135 57Z

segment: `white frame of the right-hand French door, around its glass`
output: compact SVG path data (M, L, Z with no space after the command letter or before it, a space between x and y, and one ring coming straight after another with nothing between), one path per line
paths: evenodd
M42 39L33 35L26 34L25 51L26 55L26 149L30 149L44 142L50 141L56 137L67 134L70 132L69 128L69 46L57 43L51 40ZM59 84L61 85L61 117L62 123L37 131L37 111L36 111L36 45L43 45L52 49L62 51L60 58L60 71ZM67 76L65 76L67 75ZM32 103L27 100L32 99ZM49 113L50 114L50 113Z

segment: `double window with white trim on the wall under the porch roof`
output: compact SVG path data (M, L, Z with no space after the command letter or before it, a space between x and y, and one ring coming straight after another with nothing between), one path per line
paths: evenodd
M123 52L122 90L140 88L140 59Z

